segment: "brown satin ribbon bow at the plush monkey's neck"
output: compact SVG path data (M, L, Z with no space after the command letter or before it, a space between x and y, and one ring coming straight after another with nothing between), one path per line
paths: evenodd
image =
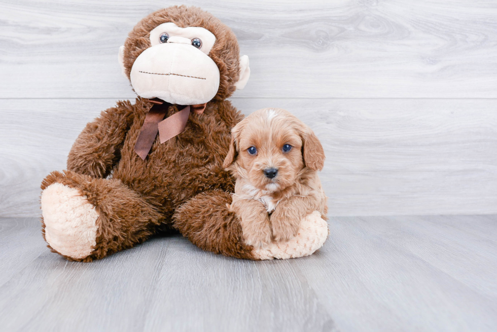
M149 99L149 101L152 102L154 105L152 106L152 108L150 108L149 112L145 116L145 122L143 126L141 126L138 139L136 140L136 144L134 145L134 151L143 160L147 158L150 149L152 149L152 145L154 144L157 132L159 132L159 139L161 144L171 139L172 137L181 134L185 130L190 111L192 110L193 112L195 112L195 114L202 114L207 104L205 103L187 106L178 105L178 108L181 109L180 112L164 119L164 116L167 113L167 109L169 108L169 106L171 106L171 104L168 102L164 102L158 98Z

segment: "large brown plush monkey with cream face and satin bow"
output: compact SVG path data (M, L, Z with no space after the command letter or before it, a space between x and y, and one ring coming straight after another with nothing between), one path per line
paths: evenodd
M43 235L53 252L90 262L167 229L243 259L303 256L323 244L326 225L311 221L294 248L253 248L227 207L234 179L222 165L243 116L225 99L250 69L226 25L194 7L159 10L129 33L119 61L135 103L102 112L74 143L67 170L43 180Z

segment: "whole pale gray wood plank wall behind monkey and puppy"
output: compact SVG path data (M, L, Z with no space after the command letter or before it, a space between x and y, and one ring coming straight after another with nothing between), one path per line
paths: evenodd
M117 51L170 1L0 2L0 216L85 123L134 98ZM330 215L497 213L497 3L192 1L228 24L252 76L232 102L289 109L321 138Z

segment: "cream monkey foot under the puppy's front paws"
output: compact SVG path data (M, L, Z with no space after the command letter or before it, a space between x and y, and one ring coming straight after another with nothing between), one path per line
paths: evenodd
M259 260L308 256L323 246L328 233L328 225L321 217L321 213L314 211L302 220L296 237L287 242L270 243L265 247L254 249L253 254Z

